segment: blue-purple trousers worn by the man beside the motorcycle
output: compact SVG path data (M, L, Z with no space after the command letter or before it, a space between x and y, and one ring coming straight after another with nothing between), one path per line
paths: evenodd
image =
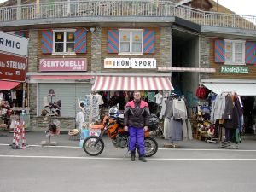
M135 152L136 145L140 156L145 155L144 129L129 126L129 150Z

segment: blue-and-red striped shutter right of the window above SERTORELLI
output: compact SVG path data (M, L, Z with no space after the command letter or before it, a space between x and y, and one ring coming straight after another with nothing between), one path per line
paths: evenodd
M86 29L78 29L75 32L74 49L76 53L86 53L87 31Z

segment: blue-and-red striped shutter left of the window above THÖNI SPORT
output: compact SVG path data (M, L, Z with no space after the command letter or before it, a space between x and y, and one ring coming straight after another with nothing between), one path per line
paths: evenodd
M119 31L117 29L108 30L108 53L119 53Z

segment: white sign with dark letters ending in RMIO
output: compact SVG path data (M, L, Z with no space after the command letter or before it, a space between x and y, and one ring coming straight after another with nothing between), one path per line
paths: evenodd
M26 56L27 45L28 38L0 32L0 51Z

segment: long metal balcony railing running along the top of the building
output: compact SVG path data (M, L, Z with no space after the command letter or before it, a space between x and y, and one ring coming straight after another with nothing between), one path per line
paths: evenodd
M44 18L123 16L177 16L202 26L256 29L256 16L205 12L160 0L90 0L33 3L0 8L0 22ZM4 25L4 24L3 24Z

